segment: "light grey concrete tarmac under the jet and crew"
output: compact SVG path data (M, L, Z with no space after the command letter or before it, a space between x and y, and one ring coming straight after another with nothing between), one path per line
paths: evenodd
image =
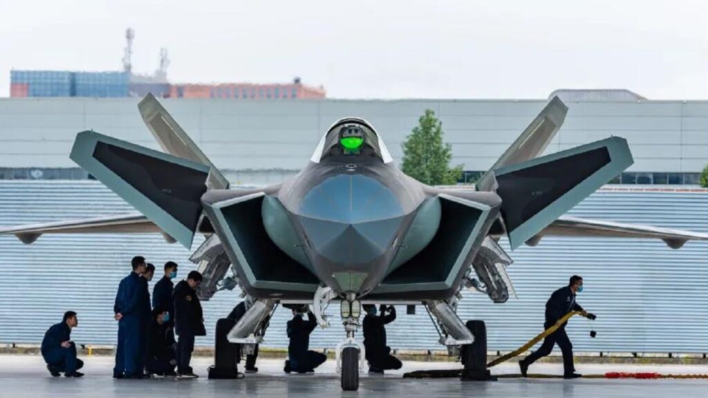
M209 358L195 358L198 380L113 380L113 358L82 357L81 379L51 377L40 356L0 356L0 397L705 397L708 380L562 380L500 379L497 382L461 382L458 379L402 379L405 372L459 368L456 363L404 363L404 368L384 376L362 375L358 392L342 392L333 360L314 375L282 373L282 360L258 361L259 373L243 380L207 380ZM578 364L580 373L658 372L708 373L708 365L603 365ZM504 363L493 374L518 373L518 365ZM530 373L559 375L562 365L539 363Z

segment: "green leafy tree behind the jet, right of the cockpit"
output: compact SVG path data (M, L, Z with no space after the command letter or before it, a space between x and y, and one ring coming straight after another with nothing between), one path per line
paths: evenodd
M426 109L418 126L403 143L401 171L428 185L453 185L462 176L462 165L450 167L452 145L442 141L442 122Z

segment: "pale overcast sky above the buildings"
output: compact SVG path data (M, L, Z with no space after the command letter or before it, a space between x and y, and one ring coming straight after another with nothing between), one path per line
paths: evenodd
M336 98L546 98L624 88L708 99L708 1L0 0L10 70L323 85Z

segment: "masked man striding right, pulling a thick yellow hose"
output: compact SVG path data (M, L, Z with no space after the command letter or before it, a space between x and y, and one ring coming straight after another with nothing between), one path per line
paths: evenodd
M560 319L571 311L580 311L583 313L583 317L588 319L595 319L594 314L590 314L583 307L581 307L576 302L576 294L583 291L583 278L578 275L571 276L568 286L560 288L553 292L551 297L546 302L546 321L543 324L545 329L557 324L559 326L558 330L554 333L549 334L546 339L544 339L541 348L537 351L531 353L523 360L519 361L519 367L521 368L521 375L526 377L529 366L536 362L539 358L547 356L553 351L554 344L558 344L563 353L563 378L564 379L575 379L577 377L582 377L578 375L573 364L573 344L571 344L568 334L566 334L566 324L560 322Z

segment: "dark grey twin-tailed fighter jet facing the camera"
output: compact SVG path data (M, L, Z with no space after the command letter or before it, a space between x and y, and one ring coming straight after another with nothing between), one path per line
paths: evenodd
M137 213L0 234L30 244L47 233L159 232L188 249L195 234L203 234L192 256L205 275L200 295L237 285L253 302L229 333L231 341L260 341L278 303L312 305L321 326L328 326L324 309L340 302L346 339L337 347L337 367L344 390L358 388L364 369L364 347L355 339L362 303L422 305L437 323L440 342L452 355L462 351L466 369L480 370L474 363L486 347L472 347L484 325L465 324L455 308L462 289L494 302L513 294L502 237L511 249L535 246L546 236L653 238L673 249L708 240L708 234L564 216L633 159L620 137L542 156L568 110L559 98L474 190L436 188L406 176L379 132L361 118L334 121L292 178L265 188L232 187L154 96L138 107L164 152L84 131L70 155Z

